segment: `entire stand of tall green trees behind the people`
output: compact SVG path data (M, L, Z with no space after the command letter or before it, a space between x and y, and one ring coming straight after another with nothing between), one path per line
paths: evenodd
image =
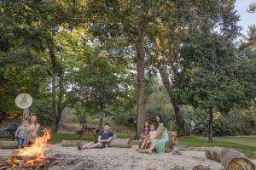
M2 116L24 92L55 131L79 107L100 127L127 117L137 134L161 112L183 136L193 106L209 113L212 136L216 112L252 108L255 29L236 43L234 1L2 1L0 13Z

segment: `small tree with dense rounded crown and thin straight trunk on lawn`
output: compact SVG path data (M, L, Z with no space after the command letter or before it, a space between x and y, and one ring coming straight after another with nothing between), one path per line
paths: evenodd
M212 34L204 43L202 47L206 48L202 49L195 67L185 73L189 81L183 96L190 105L208 112L208 141L212 142L213 111L227 114L232 108L250 106L255 91L249 93L248 89L254 86L246 75L253 65L244 65L234 45L219 35Z

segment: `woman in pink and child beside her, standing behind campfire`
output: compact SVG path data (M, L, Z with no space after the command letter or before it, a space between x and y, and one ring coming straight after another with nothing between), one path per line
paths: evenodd
M38 137L40 124L37 116L32 116L28 120L24 120L15 132L19 148L29 146L34 143Z

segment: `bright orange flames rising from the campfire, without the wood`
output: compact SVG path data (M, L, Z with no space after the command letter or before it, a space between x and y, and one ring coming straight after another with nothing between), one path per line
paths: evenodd
M44 158L44 151L48 149L47 141L50 139L50 131L49 129L44 129L44 136L38 137L35 142L25 149L18 150L18 156L32 156L32 160L28 160L25 162L25 166L33 166L39 161L42 161ZM35 157L33 159L33 157ZM18 162L18 160L14 160L14 162Z

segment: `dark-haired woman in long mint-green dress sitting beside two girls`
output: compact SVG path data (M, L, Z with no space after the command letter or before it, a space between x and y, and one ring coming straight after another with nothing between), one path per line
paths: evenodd
M165 153L165 144L169 140L167 128L162 116L156 115L155 122L158 124L157 134L151 141L148 150L144 150L144 152L151 154L153 150L156 150L156 153L158 154Z

